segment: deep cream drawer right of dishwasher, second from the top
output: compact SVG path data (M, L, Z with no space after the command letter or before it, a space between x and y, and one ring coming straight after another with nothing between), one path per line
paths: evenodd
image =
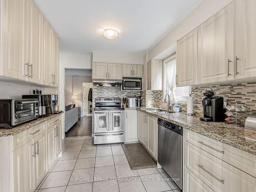
M185 141L184 165L216 192L254 192L256 178Z

